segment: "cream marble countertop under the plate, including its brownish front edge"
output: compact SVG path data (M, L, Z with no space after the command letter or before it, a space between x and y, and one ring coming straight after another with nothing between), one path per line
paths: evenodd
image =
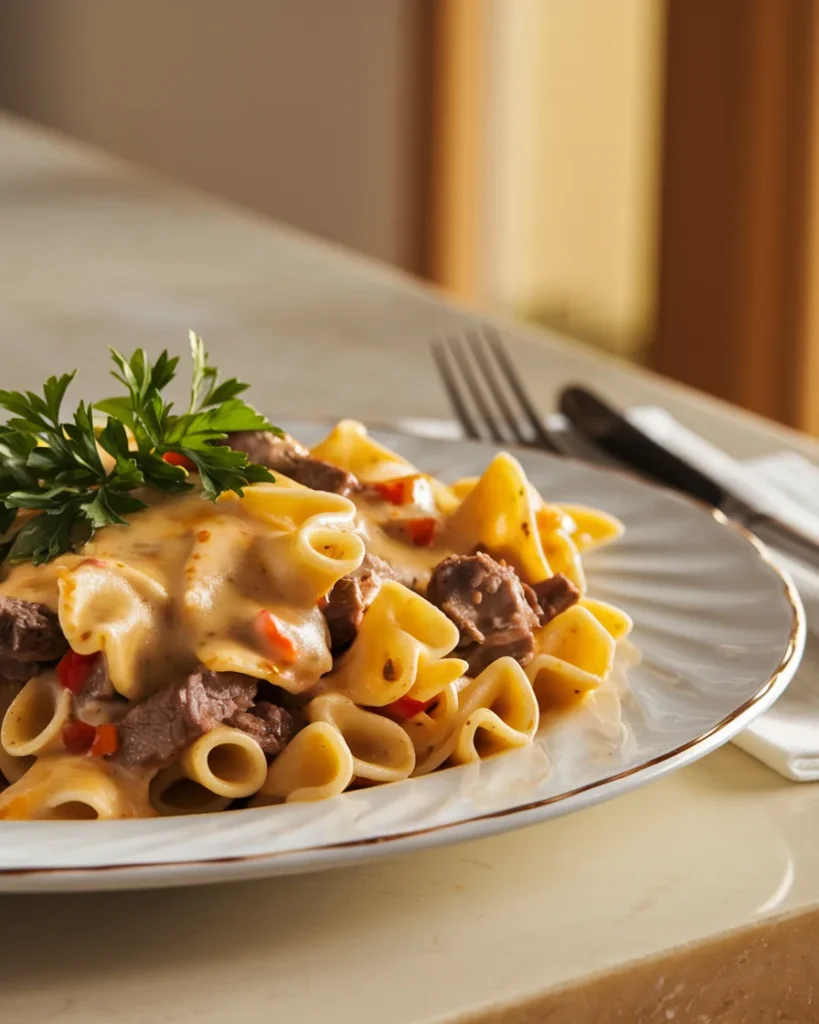
M181 347L193 327L273 417L446 416L427 341L484 315L0 117L4 387L78 366L96 391L104 345ZM784 428L493 319L544 408L575 380L663 404L737 456L819 455ZM566 818L358 868L0 896L0 1019L815 1021L817 840L819 788L732 748Z

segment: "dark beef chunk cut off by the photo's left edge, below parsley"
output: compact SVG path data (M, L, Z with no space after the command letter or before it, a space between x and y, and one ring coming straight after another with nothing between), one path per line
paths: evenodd
M44 604L0 595L0 675L25 680L41 662L54 662L68 650L56 614Z

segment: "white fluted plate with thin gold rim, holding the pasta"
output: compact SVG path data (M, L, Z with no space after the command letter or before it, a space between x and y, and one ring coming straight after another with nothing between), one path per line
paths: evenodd
M311 442L322 428L291 424ZM493 449L379 434L444 479ZM637 478L516 453L551 501L596 505L626 537L586 560L593 597L635 621L612 685L479 765L319 804L101 822L0 822L0 891L127 889L310 871L519 828L607 800L727 742L792 677L805 624L748 535Z

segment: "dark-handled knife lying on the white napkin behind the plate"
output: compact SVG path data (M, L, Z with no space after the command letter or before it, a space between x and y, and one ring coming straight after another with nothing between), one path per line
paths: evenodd
M605 455L655 483L719 509L766 544L819 569L819 537L753 505L729 487L663 447L622 413L585 387L567 387L560 412L577 433Z

